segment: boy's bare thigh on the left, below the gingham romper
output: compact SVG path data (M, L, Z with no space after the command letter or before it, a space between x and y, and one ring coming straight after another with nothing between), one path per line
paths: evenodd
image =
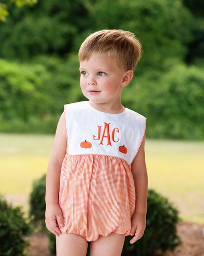
M86 256L88 242L77 234L56 236L57 256Z

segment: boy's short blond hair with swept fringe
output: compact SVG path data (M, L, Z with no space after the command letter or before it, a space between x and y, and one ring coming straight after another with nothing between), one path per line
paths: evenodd
M81 44L79 61L88 60L92 54L116 59L126 71L134 70L140 59L142 46L134 33L123 30L101 30L89 35Z

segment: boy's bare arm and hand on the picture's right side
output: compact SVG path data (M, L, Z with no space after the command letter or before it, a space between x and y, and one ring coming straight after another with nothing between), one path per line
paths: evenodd
M146 228L148 176L145 163L145 136L137 156L132 162L131 170L136 193L135 212L131 218L130 230L130 235L134 235L130 240L130 243L133 244L143 236Z

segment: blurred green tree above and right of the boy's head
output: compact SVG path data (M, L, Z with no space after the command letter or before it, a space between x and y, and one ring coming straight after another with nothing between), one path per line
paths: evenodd
M185 59L192 15L181 0L100 0L89 5L94 30L134 32L144 48L137 70L162 69L167 58Z

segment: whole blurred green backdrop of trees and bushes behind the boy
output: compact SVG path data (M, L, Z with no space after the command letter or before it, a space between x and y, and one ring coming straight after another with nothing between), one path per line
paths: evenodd
M147 117L147 137L204 139L201 0L40 0L0 23L0 132L54 133L63 105L86 100L77 52L91 32L123 29L142 59L122 102Z

